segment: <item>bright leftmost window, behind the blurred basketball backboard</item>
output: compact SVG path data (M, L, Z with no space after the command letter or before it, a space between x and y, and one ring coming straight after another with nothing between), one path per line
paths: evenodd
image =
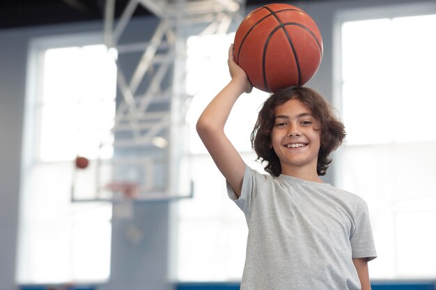
M111 204L71 201L75 157L109 159L116 65L95 40L35 40L29 58L17 282L109 277ZM108 142L109 140L109 142ZM101 146L104 143L104 146ZM113 143L113 141L112 141Z

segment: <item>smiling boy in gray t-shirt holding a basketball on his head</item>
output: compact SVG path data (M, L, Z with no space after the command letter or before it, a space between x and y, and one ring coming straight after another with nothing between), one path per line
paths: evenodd
M366 203L320 179L345 138L343 124L309 88L274 93L251 134L271 176L261 175L224 134L233 104L252 89L233 46L228 67L232 79L205 108L197 131L249 227L241 289L371 289L367 263L376 253Z

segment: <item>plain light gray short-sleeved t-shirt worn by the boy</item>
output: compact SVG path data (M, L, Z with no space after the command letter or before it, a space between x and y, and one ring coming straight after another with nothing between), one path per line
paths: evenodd
M249 234L241 290L361 289L352 258L377 257L366 202L330 184L245 166Z

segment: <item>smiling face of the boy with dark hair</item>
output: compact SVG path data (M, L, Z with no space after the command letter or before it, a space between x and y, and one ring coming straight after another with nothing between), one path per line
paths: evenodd
M271 140L280 159L281 172L316 175L321 130L309 107L298 99L290 99L274 108L274 116Z

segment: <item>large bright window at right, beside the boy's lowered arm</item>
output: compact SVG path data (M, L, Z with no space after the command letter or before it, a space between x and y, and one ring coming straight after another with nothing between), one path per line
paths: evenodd
M343 22L338 186L370 209L372 278L435 277L436 15Z

